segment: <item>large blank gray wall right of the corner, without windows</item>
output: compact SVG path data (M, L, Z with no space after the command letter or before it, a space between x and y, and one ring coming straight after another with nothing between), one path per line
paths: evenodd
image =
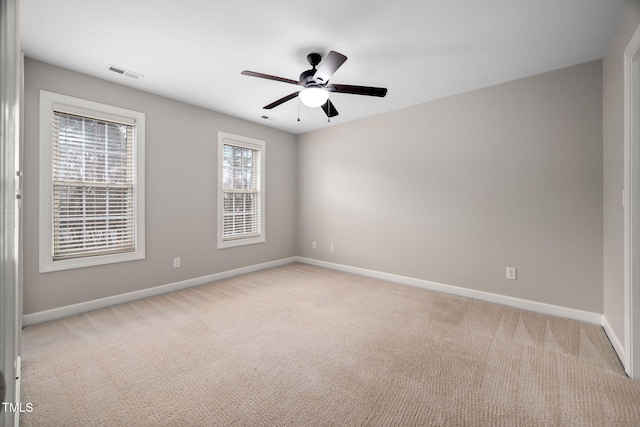
M602 313L602 169L601 61L312 132L297 253Z

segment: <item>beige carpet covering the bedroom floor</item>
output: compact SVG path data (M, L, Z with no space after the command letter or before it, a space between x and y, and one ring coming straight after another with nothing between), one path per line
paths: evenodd
M24 426L640 426L598 326L303 264L23 340Z

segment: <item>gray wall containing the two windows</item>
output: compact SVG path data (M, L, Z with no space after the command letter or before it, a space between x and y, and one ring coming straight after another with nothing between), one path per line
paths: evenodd
M25 314L295 255L295 136L30 59L25 86ZM40 89L146 113L145 260L38 273ZM219 130L266 141L266 243L216 249Z

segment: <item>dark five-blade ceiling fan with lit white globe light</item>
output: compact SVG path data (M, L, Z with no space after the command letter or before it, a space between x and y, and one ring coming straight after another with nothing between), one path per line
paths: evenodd
M300 101L308 107L322 107L327 117L331 118L338 115L338 110L336 110L329 99L329 92L379 97L383 97L387 94L387 89L382 87L330 84L329 79L346 60L346 56L334 51L329 52L324 59L322 59L322 56L319 53L310 53L307 55L307 61L309 61L312 68L310 70L303 71L302 74L300 74L300 80L291 80L284 77L271 76L269 74L262 74L248 70L243 71L241 74L244 76L259 77L261 79L275 80L304 86L304 89L302 90L293 92L269 105L265 105L263 108L267 110L275 108L295 97L299 97Z

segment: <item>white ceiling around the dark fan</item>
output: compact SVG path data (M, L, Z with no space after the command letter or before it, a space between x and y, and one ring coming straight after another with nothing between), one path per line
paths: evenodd
M27 57L300 134L602 58L626 0L22 0ZM310 52L349 59L340 115L294 99ZM135 80L107 65L142 74ZM298 108L300 121L297 121ZM268 119L261 116L267 115Z

